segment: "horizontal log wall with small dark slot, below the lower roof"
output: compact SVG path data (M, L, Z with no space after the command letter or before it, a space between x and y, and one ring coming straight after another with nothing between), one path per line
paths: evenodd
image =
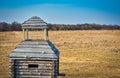
M9 60L10 78L56 78L59 60ZM38 67L29 68L29 65Z

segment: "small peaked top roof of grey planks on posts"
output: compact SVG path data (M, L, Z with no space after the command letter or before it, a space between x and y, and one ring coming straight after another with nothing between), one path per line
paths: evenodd
M47 23L40 17L33 16L22 24L23 29L44 29L48 28Z

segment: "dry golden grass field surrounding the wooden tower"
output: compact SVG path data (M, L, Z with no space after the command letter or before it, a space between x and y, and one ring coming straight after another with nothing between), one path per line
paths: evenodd
M43 32L30 32L38 38ZM0 78L8 78L8 55L22 32L0 32ZM50 31L60 54L59 78L120 78L120 30Z

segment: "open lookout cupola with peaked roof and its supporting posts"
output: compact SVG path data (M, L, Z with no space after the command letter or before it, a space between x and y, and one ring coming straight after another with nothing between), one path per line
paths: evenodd
M33 16L22 24L22 29L24 32L24 40L29 39L29 29L44 29L45 40L48 40L48 29L47 23L44 22L40 17Z

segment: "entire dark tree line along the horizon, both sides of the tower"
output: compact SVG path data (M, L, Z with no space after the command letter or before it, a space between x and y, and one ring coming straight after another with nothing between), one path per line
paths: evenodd
M120 30L119 25L100 24L48 24L50 30ZM0 31L22 31L21 23L0 22Z

